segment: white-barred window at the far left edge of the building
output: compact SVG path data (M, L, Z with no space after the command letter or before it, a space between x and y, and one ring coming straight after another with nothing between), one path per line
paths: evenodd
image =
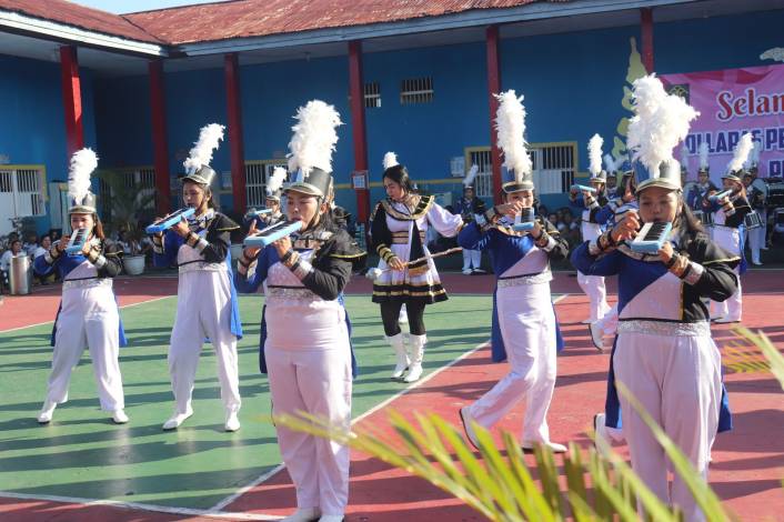
M0 168L0 233L10 219L44 215L43 165L3 165Z

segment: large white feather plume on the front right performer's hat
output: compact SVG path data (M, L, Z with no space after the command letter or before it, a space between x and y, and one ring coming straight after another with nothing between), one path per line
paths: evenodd
M700 113L683 98L667 94L655 74L634 80L635 116L629 122L626 145L652 178L659 165L672 159L673 148L688 134L690 122Z

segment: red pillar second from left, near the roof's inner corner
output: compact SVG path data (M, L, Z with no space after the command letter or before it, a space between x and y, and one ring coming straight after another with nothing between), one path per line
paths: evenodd
M152 112L152 148L155 158L155 207L160 215L171 210L169 145L167 143L167 104L163 90L163 61L148 64L150 74L150 110Z

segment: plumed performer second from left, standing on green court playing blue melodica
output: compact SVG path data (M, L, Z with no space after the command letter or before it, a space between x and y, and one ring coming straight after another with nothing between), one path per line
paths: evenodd
M218 359L218 379L225 413L225 431L240 429L240 378L237 341L242 338L237 292L231 275L231 232L239 225L214 209L211 184L215 171L210 167L212 151L223 139L223 126L201 129L199 141L184 161L182 178L185 207L195 209L193 218L181 220L165 234L152 237L155 267L177 263L177 317L169 347L169 374L177 405L163 423L174 430L193 414L191 399L199 357L209 339Z

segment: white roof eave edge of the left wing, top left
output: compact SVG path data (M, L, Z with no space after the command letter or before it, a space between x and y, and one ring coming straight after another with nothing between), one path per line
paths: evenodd
M7 10L0 10L0 30L150 58L165 58L169 56L169 51L162 44L88 31L66 23L28 17Z

